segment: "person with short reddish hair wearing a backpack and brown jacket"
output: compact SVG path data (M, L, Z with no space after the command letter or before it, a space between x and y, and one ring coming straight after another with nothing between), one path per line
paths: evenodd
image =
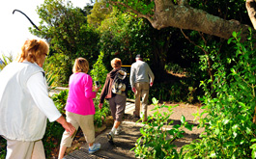
M108 142L113 144L115 135L121 131L121 122L126 109L128 77L127 72L121 68L122 61L115 58L111 61L113 69L107 74L103 89L100 93L99 108L102 108L104 99L109 102L111 115L114 124L111 131L107 134Z

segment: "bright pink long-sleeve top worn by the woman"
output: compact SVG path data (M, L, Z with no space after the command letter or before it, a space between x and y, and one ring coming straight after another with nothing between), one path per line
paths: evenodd
M70 92L67 99L66 111L78 115L94 115L95 105L93 98L93 79L90 75L82 72L73 73L70 77Z

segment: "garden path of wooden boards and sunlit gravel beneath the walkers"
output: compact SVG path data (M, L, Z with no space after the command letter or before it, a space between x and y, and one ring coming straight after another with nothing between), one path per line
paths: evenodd
M166 104L166 105L176 105L176 104ZM149 105L149 115L153 114L151 111L154 108L153 105ZM180 103L179 106L173 108L173 114L170 119L174 120L172 125L178 124L181 121L182 115L185 116L187 122L197 125L198 122L195 120L192 114L195 114L202 110L199 109L200 106L194 106L189 104ZM143 126L141 122L137 122L132 118L132 113L134 111L134 104L130 101L127 103L127 109L125 111L125 120L123 124L123 132L114 138L115 145L110 145L107 142L106 135L110 131L111 127L107 127L100 135L96 138L96 143L101 144L101 148L95 154L88 153L87 144L78 147L79 149L72 151L70 154L66 155L66 159L85 159L85 158L113 158L113 159L125 159L125 158L135 158L134 151L130 150L135 146L136 140L140 137L140 128ZM166 108L162 108L163 112L168 111ZM167 128L171 128L169 125ZM178 149L191 141L199 138L199 135L203 132L203 129L197 129L196 126L193 127L192 131L185 129L185 138L175 141L175 145Z

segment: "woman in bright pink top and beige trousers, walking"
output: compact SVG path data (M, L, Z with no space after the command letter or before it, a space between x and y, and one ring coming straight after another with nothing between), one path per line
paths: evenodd
M89 70L89 63L84 58L75 60L72 67L73 74L70 77L70 92L66 104L67 120L77 130L80 126L89 144L89 153L94 153L100 149L100 144L95 142L94 115L95 105L93 98L99 92L100 87L93 88L93 79L86 74ZM95 92L93 92L93 89ZM73 135L74 136L74 135ZM63 158L67 147L71 146L73 136L70 137L68 132L64 132L61 141L59 159Z

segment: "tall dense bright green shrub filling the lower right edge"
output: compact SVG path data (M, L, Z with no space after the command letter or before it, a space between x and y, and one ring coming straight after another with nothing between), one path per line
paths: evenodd
M228 43L234 43L235 56L219 64L214 74L213 88L201 83L205 90L205 106L200 127L205 132L200 140L185 146L185 158L255 158L256 57L252 33L241 42L240 33L233 33ZM215 55L215 58L219 56ZM228 66L229 69L226 68ZM215 96L211 94L215 92ZM203 118L206 116L205 118Z

